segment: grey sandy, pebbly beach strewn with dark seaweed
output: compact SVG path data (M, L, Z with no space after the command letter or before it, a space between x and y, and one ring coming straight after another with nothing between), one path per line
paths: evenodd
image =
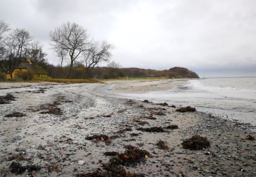
M110 84L115 93L145 93L184 82L0 83L0 96L14 97L0 104L0 176L117 176L108 164L123 176L256 176L251 125L104 92ZM184 148L193 135L210 146ZM143 156L130 163L129 150Z

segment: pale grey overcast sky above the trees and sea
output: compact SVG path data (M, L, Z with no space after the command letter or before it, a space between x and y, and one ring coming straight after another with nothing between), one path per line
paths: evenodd
M0 20L29 30L55 65L49 31L70 21L113 44L122 67L256 76L255 0L1 0Z

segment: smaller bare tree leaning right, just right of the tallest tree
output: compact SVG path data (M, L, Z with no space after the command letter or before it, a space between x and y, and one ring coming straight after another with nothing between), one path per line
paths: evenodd
M84 52L85 58L85 76L89 76L89 72L93 69L96 65L101 62L109 61L111 57L110 50L113 48L111 44L106 42L102 42L101 44L94 43L91 45L91 48Z

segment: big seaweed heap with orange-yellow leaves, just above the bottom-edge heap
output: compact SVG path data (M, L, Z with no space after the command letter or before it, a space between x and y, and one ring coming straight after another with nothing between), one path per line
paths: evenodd
M136 165L137 163L141 163L146 161L149 157L151 157L150 152L147 150L141 150L134 146L125 146L126 151L122 154L118 154L115 157L110 159L111 165Z

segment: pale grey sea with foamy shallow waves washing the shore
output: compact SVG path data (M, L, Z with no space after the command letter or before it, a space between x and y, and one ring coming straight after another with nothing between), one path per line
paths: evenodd
M124 95L123 95L124 96ZM188 80L169 91L126 94L134 99L193 106L214 116L256 125L256 78L206 78Z

